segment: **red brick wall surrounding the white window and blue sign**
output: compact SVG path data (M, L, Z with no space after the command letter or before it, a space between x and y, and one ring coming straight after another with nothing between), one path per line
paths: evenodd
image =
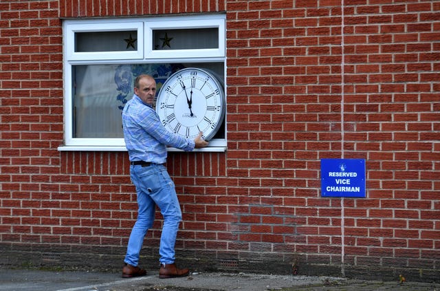
M19 251L119 262L136 215L125 152L57 151L60 17L192 12L226 12L228 151L169 155L184 213L179 257L438 279L434 0L0 2L1 263ZM366 198L320 197L321 158L365 159ZM157 256L160 223L146 256Z

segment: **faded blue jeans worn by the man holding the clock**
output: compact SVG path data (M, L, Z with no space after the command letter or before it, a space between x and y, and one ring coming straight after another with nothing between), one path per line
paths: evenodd
M146 232L148 228L153 226L155 206L157 205L164 217L162 236L160 237L159 262L174 263L174 246L181 222L180 204L177 200L174 182L168 175L166 167L159 164L144 167L130 166L130 175L131 181L136 186L139 210L136 223L131 230L124 262L137 266Z

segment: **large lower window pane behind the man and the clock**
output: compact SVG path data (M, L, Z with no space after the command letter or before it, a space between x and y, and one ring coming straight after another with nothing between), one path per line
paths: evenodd
M133 97L135 78L150 74L159 91L166 78L184 67L210 69L220 78L224 74L223 62L72 66L73 138L123 138L122 109ZM225 138L224 125L214 138Z

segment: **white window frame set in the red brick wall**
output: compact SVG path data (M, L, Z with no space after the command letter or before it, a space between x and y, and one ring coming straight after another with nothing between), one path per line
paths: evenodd
M152 50L153 30L218 28L219 47L194 50ZM137 31L137 50L124 52L75 52L76 32ZM225 15L199 15L189 17L151 17L145 19L65 20L63 22L64 55L64 144L59 151L126 151L124 138L74 138L72 67L74 65L124 63L209 63L225 65ZM225 76L223 76L225 80ZM225 86L226 91L226 86ZM226 119L226 117L225 117ZM209 147L195 151L225 151L225 138L210 141ZM179 151L170 148L168 151Z

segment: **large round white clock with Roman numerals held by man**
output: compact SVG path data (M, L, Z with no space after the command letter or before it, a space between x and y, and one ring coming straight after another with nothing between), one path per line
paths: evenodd
M181 69L160 89L156 112L168 131L184 138L195 138L202 131L210 140L225 116L223 86L204 69Z

